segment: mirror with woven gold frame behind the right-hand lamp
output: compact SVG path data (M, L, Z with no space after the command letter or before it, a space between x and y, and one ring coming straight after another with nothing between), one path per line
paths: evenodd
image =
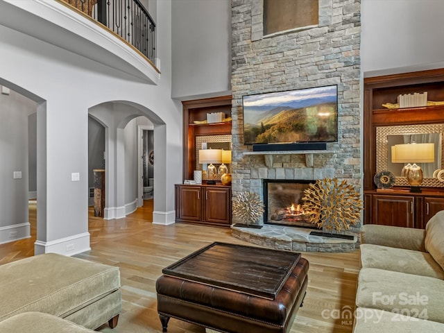
M416 142L434 144L434 163L418 163L424 173L422 187L444 187L444 183L433 174L443 168L443 133L444 124L384 126L376 128L376 172L391 171L395 175L395 185L408 186L407 179L401 176L404 163L391 162L391 147L395 144Z

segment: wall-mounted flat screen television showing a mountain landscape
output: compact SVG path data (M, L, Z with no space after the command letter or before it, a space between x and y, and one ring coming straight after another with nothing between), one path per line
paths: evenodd
M244 144L336 142L338 87L246 95Z

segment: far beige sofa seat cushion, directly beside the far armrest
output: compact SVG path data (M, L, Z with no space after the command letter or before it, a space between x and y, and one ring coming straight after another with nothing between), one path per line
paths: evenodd
M361 264L366 268L381 268L444 280L444 271L426 252L361 244Z

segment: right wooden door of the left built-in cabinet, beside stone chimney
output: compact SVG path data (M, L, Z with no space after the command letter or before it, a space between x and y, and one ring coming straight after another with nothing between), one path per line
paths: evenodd
M224 225L231 224L231 194L229 188L205 189L205 221Z

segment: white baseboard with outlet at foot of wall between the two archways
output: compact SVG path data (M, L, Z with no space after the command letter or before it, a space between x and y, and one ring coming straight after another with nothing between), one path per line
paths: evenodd
M77 255L89 251L89 232L76 234L74 236L55 239L53 241L35 241L34 253L41 255L43 253L58 253L60 255Z

